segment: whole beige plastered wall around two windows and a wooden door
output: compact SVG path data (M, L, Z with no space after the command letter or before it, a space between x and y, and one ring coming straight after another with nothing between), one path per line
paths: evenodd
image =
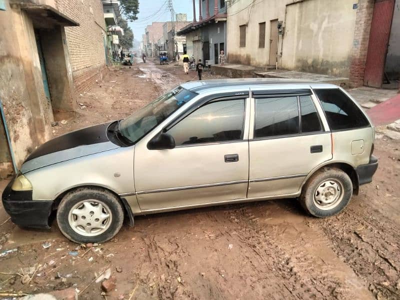
M356 2L356 1L355 1ZM348 76L356 9L349 0L239 0L227 10L228 61L269 64L270 21L283 22L277 37L278 67ZM259 47L259 23L265 22L265 46ZM239 47L239 25L247 24L246 45Z

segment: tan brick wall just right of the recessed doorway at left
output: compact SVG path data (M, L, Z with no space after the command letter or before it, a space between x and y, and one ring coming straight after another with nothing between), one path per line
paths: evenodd
M87 90L101 80L105 70L105 22L99 0L56 0L57 9L79 22L65 27L66 43L75 91Z

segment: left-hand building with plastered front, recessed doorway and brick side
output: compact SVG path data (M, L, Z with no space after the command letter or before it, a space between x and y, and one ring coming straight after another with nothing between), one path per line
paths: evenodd
M0 177L52 137L51 122L101 78L105 24L97 0L3 0ZM5 122L4 122L5 120ZM8 138L7 138L8 137Z

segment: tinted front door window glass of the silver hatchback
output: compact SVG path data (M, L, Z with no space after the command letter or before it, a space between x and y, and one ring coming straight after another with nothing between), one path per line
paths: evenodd
M176 146L241 139L244 99L208 103L168 130Z

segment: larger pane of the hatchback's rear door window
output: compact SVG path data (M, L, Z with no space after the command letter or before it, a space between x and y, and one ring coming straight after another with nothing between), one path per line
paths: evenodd
M255 138L295 133L299 133L296 96L255 99Z

